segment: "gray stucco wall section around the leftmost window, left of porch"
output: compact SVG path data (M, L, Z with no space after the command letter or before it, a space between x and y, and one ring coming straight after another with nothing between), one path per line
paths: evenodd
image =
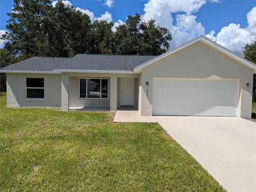
M60 74L7 73L6 77L8 107L61 106ZM44 99L26 99L26 77L44 78Z

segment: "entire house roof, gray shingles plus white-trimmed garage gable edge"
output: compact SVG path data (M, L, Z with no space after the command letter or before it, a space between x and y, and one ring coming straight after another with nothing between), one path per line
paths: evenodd
M61 72L109 72L133 73L140 72L145 66L156 62L163 57L173 54L182 48L201 41L234 60L248 66L256 73L256 65L243 57L229 51L227 48L215 43L205 36L199 36L188 43L174 48L159 56L142 55L95 55L77 54L72 58L67 57L31 57L30 59L6 66L0 72L17 73L61 73Z

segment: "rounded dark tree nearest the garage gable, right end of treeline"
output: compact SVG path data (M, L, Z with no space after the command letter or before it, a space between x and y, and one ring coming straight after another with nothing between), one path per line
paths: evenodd
M115 32L116 54L159 55L167 51L170 40L170 31L156 26L154 20L144 22L139 14L129 15Z

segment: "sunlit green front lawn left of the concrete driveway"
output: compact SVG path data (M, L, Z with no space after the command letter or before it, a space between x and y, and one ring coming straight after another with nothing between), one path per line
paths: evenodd
M223 191L157 123L0 99L1 191Z

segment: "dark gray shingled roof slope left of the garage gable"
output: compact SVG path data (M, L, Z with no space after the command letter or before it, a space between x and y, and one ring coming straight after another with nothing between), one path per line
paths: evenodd
M5 71L54 71L54 70L129 70L133 71L155 56L140 55L90 55L77 54L65 57L31 57L30 59L6 66Z

